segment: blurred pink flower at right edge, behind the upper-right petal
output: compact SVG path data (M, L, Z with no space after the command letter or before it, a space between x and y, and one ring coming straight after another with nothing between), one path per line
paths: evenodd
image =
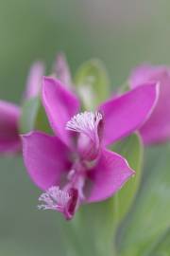
M145 144L170 140L170 69L166 66L141 65L129 78L131 88L144 82L160 82L160 96L150 118L140 129Z

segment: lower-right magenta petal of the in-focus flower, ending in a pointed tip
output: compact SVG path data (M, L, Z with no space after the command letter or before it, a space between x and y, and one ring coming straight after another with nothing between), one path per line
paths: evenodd
M88 202L102 201L112 196L133 174L134 171L130 169L124 157L104 150L90 173L93 185Z

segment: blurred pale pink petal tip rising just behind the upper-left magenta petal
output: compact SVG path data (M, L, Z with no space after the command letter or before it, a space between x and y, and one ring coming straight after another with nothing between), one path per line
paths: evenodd
M54 72L60 82L63 82L63 84L66 85L67 88L72 88L70 69L63 53L59 53L57 57Z

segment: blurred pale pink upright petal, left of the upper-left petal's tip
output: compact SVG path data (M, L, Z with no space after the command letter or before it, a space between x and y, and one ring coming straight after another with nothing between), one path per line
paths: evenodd
M39 95L41 92L43 75L44 65L41 62L37 62L31 66L26 82L26 100Z

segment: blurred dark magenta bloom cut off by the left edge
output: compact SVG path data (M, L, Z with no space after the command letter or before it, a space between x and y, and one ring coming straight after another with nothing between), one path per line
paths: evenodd
M20 150L19 117L18 106L7 101L0 101L0 153L14 153Z

